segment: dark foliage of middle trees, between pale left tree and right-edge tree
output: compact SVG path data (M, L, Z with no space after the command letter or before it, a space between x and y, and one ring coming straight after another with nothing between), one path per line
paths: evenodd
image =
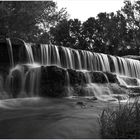
M53 43L66 47L116 54L123 46L126 22L121 13L100 13L81 24L78 19L63 20L51 28Z

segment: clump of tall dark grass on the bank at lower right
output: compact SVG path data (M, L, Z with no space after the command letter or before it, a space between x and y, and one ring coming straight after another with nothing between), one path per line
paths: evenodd
M140 138L140 104L119 103L117 109L104 109L99 117L102 138Z

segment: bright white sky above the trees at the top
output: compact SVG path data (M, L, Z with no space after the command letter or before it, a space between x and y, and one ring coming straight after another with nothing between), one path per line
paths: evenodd
M86 21L100 12L116 12L124 5L124 0L54 0L59 9L66 8L70 18Z

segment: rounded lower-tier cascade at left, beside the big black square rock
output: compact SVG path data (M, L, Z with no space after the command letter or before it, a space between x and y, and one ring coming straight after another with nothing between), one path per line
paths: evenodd
M39 92L40 65L16 65L6 79L6 88L14 97L36 96Z

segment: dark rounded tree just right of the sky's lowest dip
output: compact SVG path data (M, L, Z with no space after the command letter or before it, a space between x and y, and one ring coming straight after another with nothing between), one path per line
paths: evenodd
M127 34L125 18L119 11L116 14L99 13L96 19L89 18L83 23L82 30L88 46L92 46L89 50L114 55L122 49Z

